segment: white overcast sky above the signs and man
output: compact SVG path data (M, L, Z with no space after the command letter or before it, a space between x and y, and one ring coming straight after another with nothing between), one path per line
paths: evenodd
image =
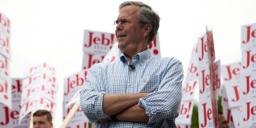
M40 62L56 68L59 81L55 127L62 123L64 77L82 67L84 29L114 33L124 0L0 0L11 20L11 76ZM256 23L255 0L141 0L159 13L162 57L175 57L186 73L192 46L213 29L216 60L241 61L241 26Z

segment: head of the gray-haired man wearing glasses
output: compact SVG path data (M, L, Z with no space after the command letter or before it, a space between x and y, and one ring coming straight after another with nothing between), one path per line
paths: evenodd
M157 35L159 21L159 15L143 2L126 1L120 4L115 21L119 49L147 48Z

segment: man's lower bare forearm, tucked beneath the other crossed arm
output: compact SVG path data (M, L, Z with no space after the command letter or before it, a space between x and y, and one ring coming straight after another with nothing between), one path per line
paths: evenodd
M145 113L145 109L137 104L116 114L118 120L123 121L148 121L149 117Z

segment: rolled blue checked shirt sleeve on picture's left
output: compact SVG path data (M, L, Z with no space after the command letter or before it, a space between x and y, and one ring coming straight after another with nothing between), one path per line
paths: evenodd
M81 108L89 121L93 123L99 119L109 117L103 112L103 95L106 93L102 91L103 89L99 84L101 79L98 79L97 69L99 68L96 65L89 69L85 84L80 91Z

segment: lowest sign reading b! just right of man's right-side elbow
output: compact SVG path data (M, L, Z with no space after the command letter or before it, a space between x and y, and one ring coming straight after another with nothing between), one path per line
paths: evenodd
M193 101L181 101L179 117L175 119L175 124L191 124L193 111Z

